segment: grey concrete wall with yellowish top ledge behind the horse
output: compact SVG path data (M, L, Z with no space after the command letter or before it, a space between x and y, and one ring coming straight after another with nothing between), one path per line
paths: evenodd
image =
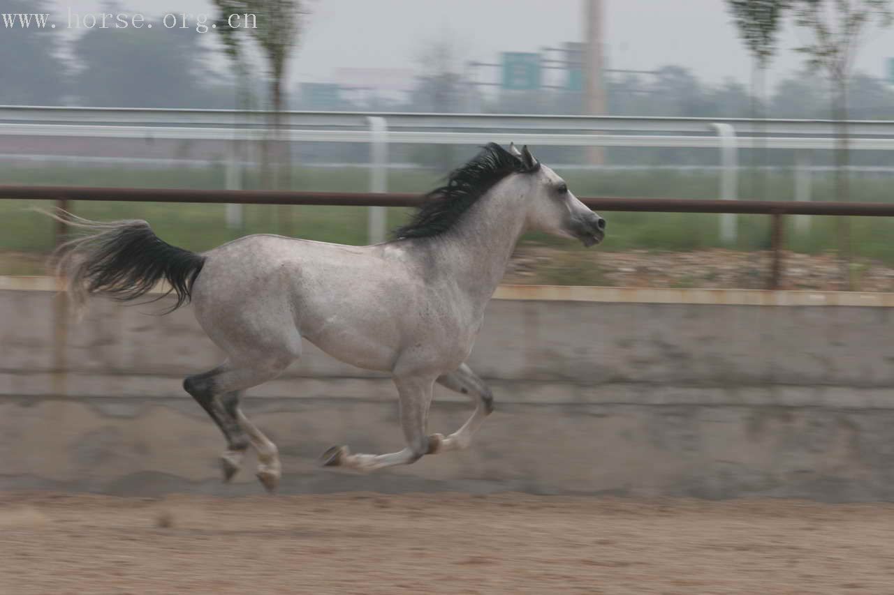
M0 279L0 489L245 494L181 389L219 354L185 309ZM470 364L496 411L471 448L384 473L321 470L331 444L400 444L391 381L307 346L247 410L279 445L284 492L894 499L894 297L814 292L498 289ZM436 389L430 432L468 417Z

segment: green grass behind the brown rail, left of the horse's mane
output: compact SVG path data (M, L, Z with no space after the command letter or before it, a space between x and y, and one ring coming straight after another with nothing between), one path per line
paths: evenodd
M222 189L223 171L164 170L122 171L53 168L41 175L36 170L0 169L0 179L8 184L81 185L137 188ZM392 175L389 189L395 192L423 192L437 183L431 172L400 172ZM292 188L302 190L367 191L368 174L359 168L341 171L298 170L293 172ZM257 188L257 179L246 180L248 188ZM54 223L31 207L49 207L48 201L0 201L0 250L46 252L53 246ZM125 218L146 219L156 232L172 244L193 250L206 250L250 233L282 233L319 241L362 244L367 238L367 209L350 206L276 206L246 205L243 229L229 230L223 205L171 205L162 203L116 203L75 201L72 211L96 220ZM407 209L389 209L388 225L397 227L407 217Z

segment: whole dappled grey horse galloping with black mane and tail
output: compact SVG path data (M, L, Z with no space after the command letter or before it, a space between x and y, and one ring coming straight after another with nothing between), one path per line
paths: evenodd
M342 362L391 373L400 397L405 448L367 455L333 447L323 465L367 471L467 448L493 397L465 361L519 236L543 230L592 246L605 229L527 147L493 143L430 192L395 239L374 246L264 234L196 254L158 239L144 221L60 217L88 232L59 252L58 272L76 306L89 294L139 298L159 281L176 295L174 308L191 300L227 357L183 388L223 432L224 479L239 470L250 444L268 490L279 482L278 452L242 413L240 391L282 373L301 356L302 339ZM477 403L446 437L426 434L434 382Z

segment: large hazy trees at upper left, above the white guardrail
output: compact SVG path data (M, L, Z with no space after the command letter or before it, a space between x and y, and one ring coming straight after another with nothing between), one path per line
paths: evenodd
M4 13L55 6L6 0ZM3 29L0 104L231 107L235 77L194 29Z

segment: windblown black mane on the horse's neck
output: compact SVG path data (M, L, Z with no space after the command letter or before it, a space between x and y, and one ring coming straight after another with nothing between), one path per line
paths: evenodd
M394 237L430 238L449 230L468 207L510 173L536 172L540 163L527 168L517 156L496 143L488 143L471 161L453 170L447 183L426 194L426 202L413 219L394 231Z

